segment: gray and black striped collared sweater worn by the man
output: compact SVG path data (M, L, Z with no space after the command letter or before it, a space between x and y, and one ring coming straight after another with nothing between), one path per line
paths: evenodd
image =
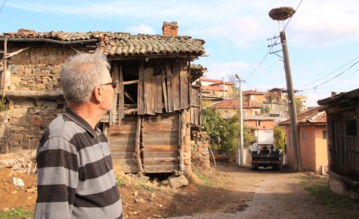
M38 218L123 218L109 145L71 109L44 131L37 151Z

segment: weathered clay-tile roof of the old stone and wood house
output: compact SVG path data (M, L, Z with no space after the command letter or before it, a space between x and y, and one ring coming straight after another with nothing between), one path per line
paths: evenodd
M87 32L68 33L51 31L44 33L22 32L4 33L0 38L8 36L18 39L51 39L55 41L98 40L100 51L105 55L131 56L144 54L188 53L203 55L202 43L189 36L164 35L131 35L128 33Z

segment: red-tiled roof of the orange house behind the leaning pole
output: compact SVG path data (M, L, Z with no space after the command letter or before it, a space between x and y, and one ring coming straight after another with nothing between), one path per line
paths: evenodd
M308 110L307 112L297 115L296 117L297 117L298 125L300 125L300 124L315 124L315 123L325 124L326 123L326 113L324 111L319 112L320 108L322 108L322 106L316 107L314 109ZM280 124L281 125L290 124L290 119L282 121Z

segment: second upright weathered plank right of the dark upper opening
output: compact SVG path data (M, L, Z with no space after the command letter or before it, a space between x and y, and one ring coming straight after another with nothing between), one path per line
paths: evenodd
M144 69L144 102L145 113L149 115L155 115L155 85L153 77L154 69Z

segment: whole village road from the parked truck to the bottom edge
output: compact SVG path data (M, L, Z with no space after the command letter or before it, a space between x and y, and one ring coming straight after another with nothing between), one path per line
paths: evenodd
M222 189L233 195L223 199L228 205L172 219L359 218L358 209L336 209L320 204L304 189L308 178L304 173L223 166L219 166L218 171L225 186Z

